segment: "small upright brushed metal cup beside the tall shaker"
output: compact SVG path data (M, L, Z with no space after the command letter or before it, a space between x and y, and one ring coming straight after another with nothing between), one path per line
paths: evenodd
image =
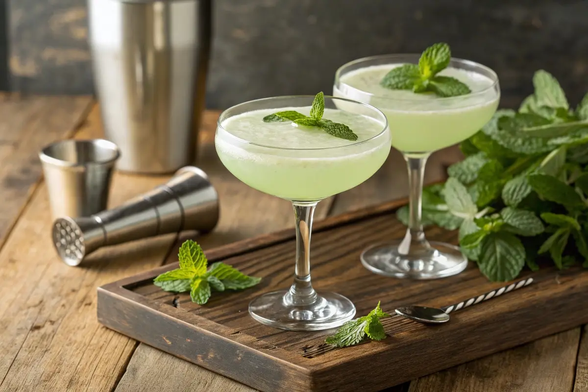
M120 152L103 139L62 140L39 153L54 219L90 216L106 209Z

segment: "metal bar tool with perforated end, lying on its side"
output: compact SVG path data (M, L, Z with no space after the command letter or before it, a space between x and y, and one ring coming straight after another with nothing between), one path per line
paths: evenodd
M165 185L115 209L56 219L52 237L61 259L77 266L99 247L182 230L209 232L218 218L218 195L208 176L198 167L186 166Z

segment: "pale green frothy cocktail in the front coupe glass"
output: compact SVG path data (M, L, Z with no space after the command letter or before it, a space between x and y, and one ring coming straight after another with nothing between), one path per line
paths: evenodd
M364 182L390 152L382 138L372 139L384 124L356 113L326 109L324 114L353 129L359 137L355 142L315 127L261 120L285 110L309 115L310 107L262 109L230 117L220 123L215 139L223 165L269 195L298 202L325 199Z

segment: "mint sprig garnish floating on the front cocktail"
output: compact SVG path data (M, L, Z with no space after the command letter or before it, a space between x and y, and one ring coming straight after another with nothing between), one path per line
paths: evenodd
M329 135L345 140L358 140L358 135L353 133L348 126L333 122L328 119L323 119L325 113L325 95L319 92L315 99L312 100L312 108L310 109L310 116L305 116L296 110L286 110L284 112L277 112L265 116L263 122L284 122L292 121L298 125L316 126L324 130Z

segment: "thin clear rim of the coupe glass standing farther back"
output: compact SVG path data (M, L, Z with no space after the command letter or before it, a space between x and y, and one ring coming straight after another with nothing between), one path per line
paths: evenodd
M362 63L362 62L379 60L379 59L394 59L394 58L398 58L399 59L399 58L407 58L407 57L413 57L413 58L415 58L415 59L418 60L420 58L420 55L417 54L417 53L389 53L389 54L385 54L385 55L375 55L375 56L362 57L362 58L359 58L359 59L355 59L355 60L346 62L345 64L343 64L342 66L340 66L337 69L337 71L335 71L335 86L338 86L339 84L342 84L342 85L348 86L349 88L352 88L352 89L354 89L356 91L359 91L360 93L365 94L366 96L375 97L375 98L379 98L379 99L405 101L405 102L406 101L408 101L408 102L413 102L413 101L414 102L423 102L422 99L416 99L416 98L415 99L412 99L412 98L389 98L389 97L386 97L386 96L383 96L383 95L378 95L378 94L375 94L375 93L366 92L366 91L360 90L358 88L355 88L353 86L350 86L347 83L341 82L341 76L342 76L341 73L342 73L343 69L347 68L348 66L355 65L355 64L358 64L358 63ZM473 92L473 93L469 93L467 95L437 97L435 100L441 100L443 102L447 102L447 101L450 101L450 100L463 99L465 96L482 95L483 93L486 93L486 92L494 89L498 85L498 83L499 83L498 75L496 74L496 72L492 68L490 68L490 67L488 67L486 65L477 63L475 61L466 60L466 59L460 59L460 58L455 58L455 57L450 58L450 62L457 62L457 63L461 63L461 64L464 64L464 65L469 65L469 66L472 66L472 67L483 69L484 71L486 71L486 72L490 73L490 75L492 75L492 85L488 86L487 88L485 88L483 90L476 91L476 92ZM399 62L396 62L396 64L403 64L403 63L406 63L406 62L400 62L400 61ZM391 63L390 65L392 65L392 64L394 64L394 63ZM360 68L358 68L358 69L360 69ZM476 72L476 71L473 71L473 72Z

